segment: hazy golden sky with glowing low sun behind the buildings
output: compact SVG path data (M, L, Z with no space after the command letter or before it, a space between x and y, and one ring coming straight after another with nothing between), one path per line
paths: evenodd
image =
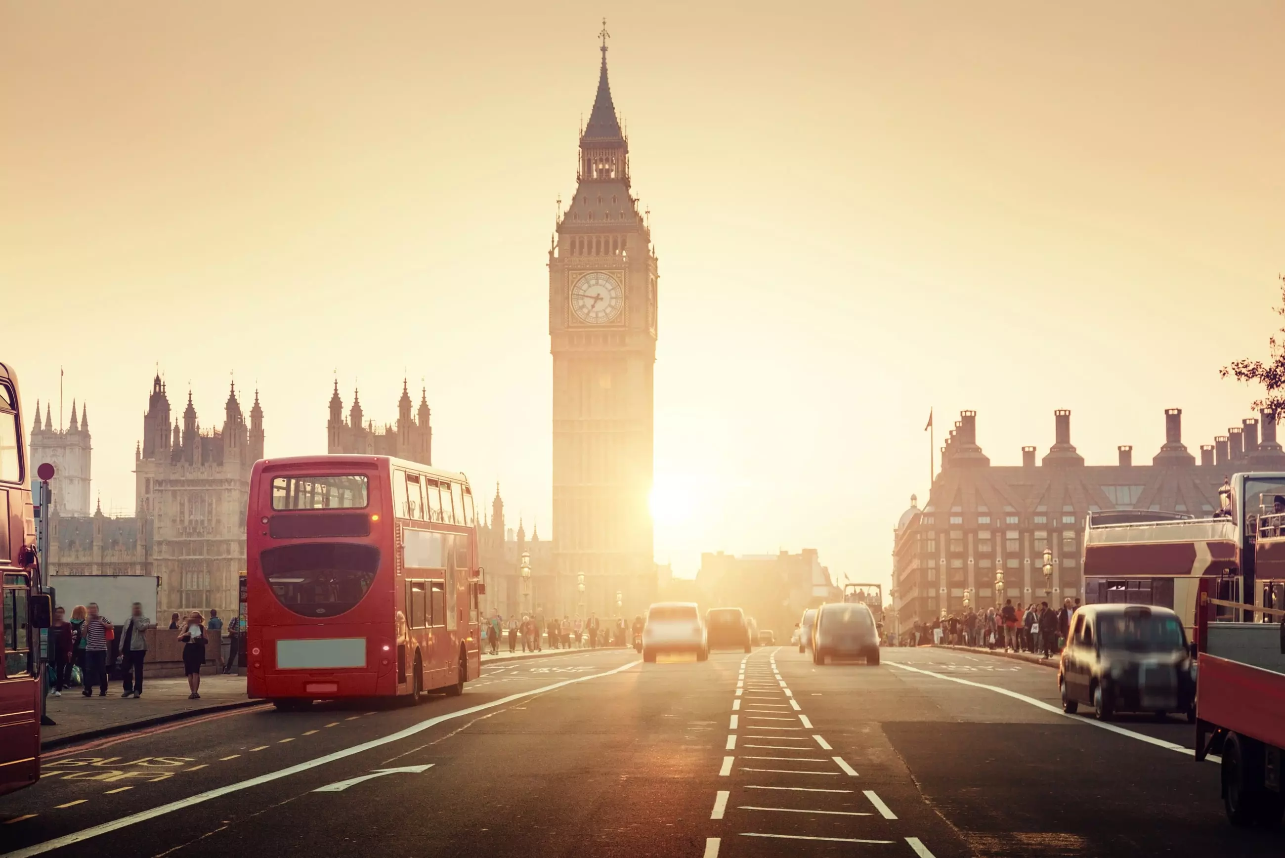
M257 384L270 456L325 451L338 370L375 420L423 378L436 464L551 533L545 254L604 14L659 561L885 575L929 407L996 464L1056 407L1091 464L1249 416L1217 369L1279 321L1280 3L0 0L3 360L28 407L66 367L104 509L157 362L206 426Z

